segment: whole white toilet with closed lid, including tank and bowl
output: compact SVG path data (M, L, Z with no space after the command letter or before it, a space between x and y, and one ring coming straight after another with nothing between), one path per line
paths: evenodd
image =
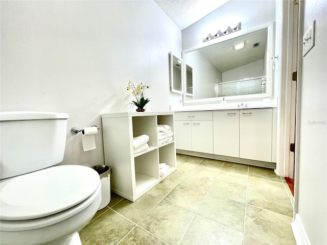
M1 244L81 244L101 204L92 168L59 165L68 115L0 112Z

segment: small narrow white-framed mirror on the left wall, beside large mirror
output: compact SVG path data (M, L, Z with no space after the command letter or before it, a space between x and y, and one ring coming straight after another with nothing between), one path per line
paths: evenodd
M182 94L182 61L170 52L170 89Z

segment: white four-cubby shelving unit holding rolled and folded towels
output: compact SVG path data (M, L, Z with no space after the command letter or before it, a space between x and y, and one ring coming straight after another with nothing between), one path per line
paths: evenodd
M176 170L174 112L103 114L105 164L111 167L111 191L132 202ZM169 125L173 140L158 145L157 125ZM149 149L134 154L133 137L149 136ZM159 163L170 167L160 177Z

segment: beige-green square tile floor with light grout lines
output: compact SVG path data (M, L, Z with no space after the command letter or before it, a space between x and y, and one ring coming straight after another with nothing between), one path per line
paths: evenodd
M293 196L272 169L177 154L177 170L134 203L111 194L83 245L296 244Z

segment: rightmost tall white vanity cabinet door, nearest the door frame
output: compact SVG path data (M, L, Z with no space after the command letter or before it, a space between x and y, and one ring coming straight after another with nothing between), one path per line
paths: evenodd
M240 110L240 158L271 162L272 108Z

